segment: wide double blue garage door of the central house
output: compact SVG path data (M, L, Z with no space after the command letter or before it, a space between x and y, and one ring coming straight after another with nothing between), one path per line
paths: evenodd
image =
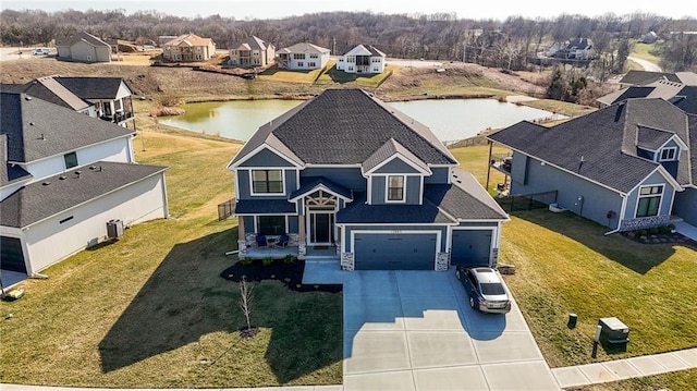
M357 233L354 237L356 270L433 270L436 233Z

